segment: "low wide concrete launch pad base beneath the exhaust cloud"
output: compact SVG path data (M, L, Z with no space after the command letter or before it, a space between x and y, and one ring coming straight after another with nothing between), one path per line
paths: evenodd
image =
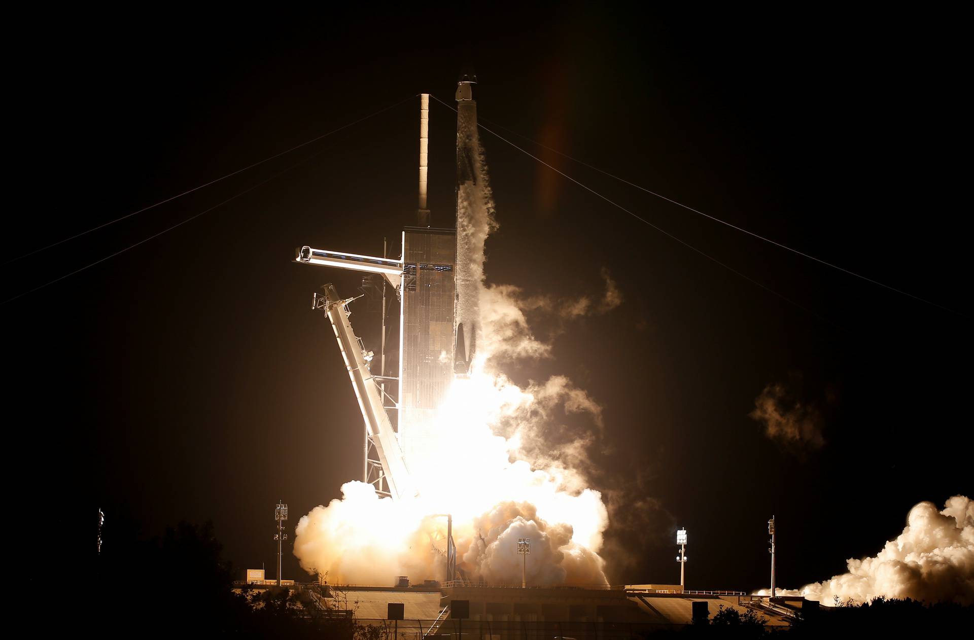
M651 587L660 588L651 588ZM325 584L313 600L327 615L379 626L396 640L458 636L489 640L576 638L607 640L643 637L654 631L680 630L694 620L712 620L721 609L739 615L754 612L767 628L788 628L799 616L819 612L802 597L768 598L730 591L674 592L665 584L605 585L601 588L553 586L512 588L454 582L441 588L413 586L342 586ZM259 587L258 587L259 588ZM309 588L293 585L291 588ZM402 617L388 618L390 604L402 605Z

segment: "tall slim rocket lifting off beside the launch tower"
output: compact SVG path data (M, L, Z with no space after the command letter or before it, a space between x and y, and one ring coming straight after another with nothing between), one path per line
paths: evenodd
M454 373L467 376L480 337L480 282L486 211L480 182L477 104L471 85L476 76L464 74L457 87L457 263L454 324Z

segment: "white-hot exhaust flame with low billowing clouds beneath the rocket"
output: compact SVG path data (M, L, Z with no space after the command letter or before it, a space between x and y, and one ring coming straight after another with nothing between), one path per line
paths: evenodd
M514 584L518 538L531 538L531 584L605 584L608 514L597 491L563 468L513 459L517 438L491 425L534 401L503 377L457 380L430 447L409 460L419 497L393 502L371 485L348 482L342 500L314 508L297 527L294 552L306 570L333 583L389 584L394 576L442 580L446 520L453 515L458 565L469 579ZM573 488L575 488L573 490Z

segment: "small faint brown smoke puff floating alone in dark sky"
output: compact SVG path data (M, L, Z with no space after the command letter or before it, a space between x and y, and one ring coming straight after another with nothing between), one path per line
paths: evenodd
M818 449L825 444L818 408L796 399L781 383L765 387L754 400L754 411L748 415L765 426L765 434L770 439L786 446Z

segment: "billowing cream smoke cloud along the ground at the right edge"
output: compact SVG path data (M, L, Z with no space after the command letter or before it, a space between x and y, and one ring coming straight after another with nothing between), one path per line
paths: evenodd
M848 572L780 595L831 605L878 596L974 604L974 501L954 496L942 510L930 502L910 509L907 526L873 557L848 560ZM760 591L767 594L767 590Z

